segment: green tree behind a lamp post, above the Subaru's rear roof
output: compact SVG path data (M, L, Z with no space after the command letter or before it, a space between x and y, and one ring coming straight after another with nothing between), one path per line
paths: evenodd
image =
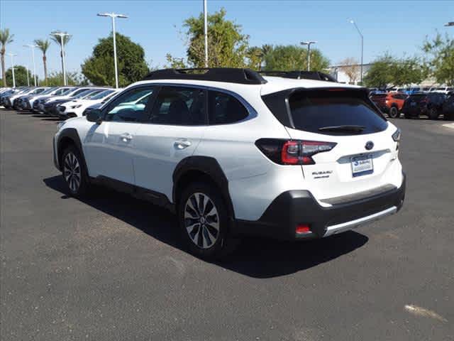
M311 50L311 71L323 71L329 60L319 49ZM307 49L298 45L277 45L265 55L265 70L307 70Z

